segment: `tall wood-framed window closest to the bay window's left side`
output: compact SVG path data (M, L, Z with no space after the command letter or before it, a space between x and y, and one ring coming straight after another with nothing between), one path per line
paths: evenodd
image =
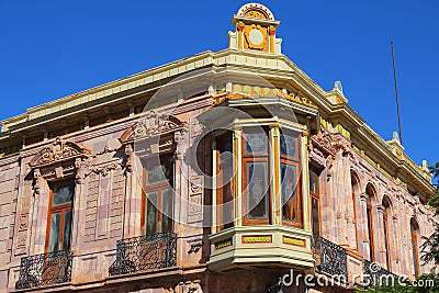
M172 177L171 156L144 160L140 221L146 235L172 232Z

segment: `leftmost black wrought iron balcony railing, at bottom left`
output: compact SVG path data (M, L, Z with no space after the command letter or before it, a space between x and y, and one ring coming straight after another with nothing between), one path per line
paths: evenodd
M16 289L46 286L71 281L74 253L67 250L24 257L21 259Z

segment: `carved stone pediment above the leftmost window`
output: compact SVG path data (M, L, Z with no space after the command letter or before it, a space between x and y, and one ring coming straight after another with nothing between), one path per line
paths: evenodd
M89 154L90 151L85 147L81 147L72 142L65 142L57 137L54 143L43 148L32 158L30 166L32 168L42 167L55 162L61 162L68 159L85 157Z

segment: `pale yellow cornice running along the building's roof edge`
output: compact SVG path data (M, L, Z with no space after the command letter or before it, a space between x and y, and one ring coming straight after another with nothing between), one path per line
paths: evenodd
M235 48L227 48L216 53L207 50L74 93L31 108L23 114L0 122L2 125L0 136L8 136L8 129L12 126L14 126L14 132L20 132L20 125L23 124L24 126L29 121L35 119L44 121L45 116L67 111L69 108L82 104L87 106L92 101L99 101L115 93L123 93L124 91L153 84L206 67L211 67L213 71L225 68L228 72L236 72L237 75L252 74L268 80L275 80L277 83L284 84L285 88L300 90L303 95L318 108L322 116L342 116L353 127L351 131L356 133L356 139L367 140L378 155L387 160L391 166L404 172L412 172L412 179L416 180L424 191L432 191L432 185L421 176L420 170L418 170L419 168L414 167L413 161L408 157L405 157L406 159L404 160L397 159L390 150L385 140L368 126L364 120L347 104L347 99L344 95L341 97L334 90L325 91L285 55L257 50ZM337 97L339 98L337 99ZM50 120L54 119L52 117Z

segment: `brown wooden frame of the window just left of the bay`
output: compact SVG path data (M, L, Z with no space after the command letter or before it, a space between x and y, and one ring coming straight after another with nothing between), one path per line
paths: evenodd
M161 164L162 158L166 158L167 160L169 160L170 164L170 168L171 168L171 177L170 178L172 180L172 182L168 181L164 181L164 182L159 182L159 183L155 183L155 184L147 184L147 177L148 177L148 171L146 168L146 161L143 164L143 171L142 171L142 209L140 209L140 228L143 230L143 233L146 235L146 204L147 204L147 194L148 193L153 193L153 192L157 192L157 226L156 226L156 233L162 233L162 191L166 189L169 189L169 191L172 194L172 214L173 214L173 174L175 174L175 162L172 162L172 158L170 156L170 154L164 154L161 156L159 156L158 159ZM147 159L146 159L147 160ZM169 216L169 219L171 221L171 232L173 230L173 218L172 216ZM158 232L157 232L158 230Z

